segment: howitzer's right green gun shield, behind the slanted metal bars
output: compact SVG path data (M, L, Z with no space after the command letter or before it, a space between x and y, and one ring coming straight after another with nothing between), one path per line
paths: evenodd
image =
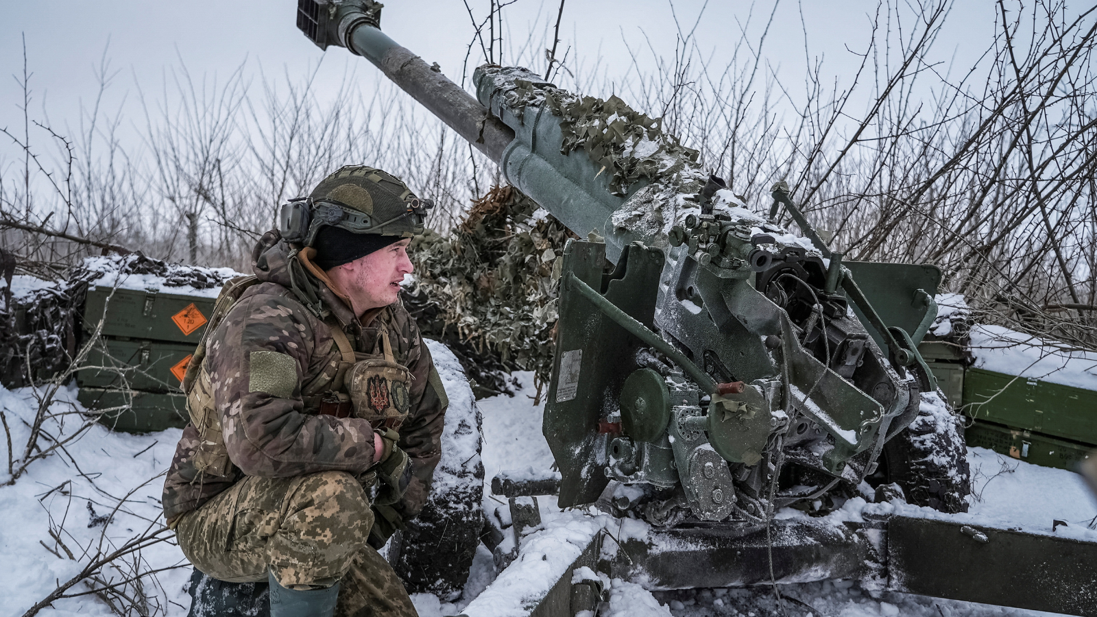
M937 293L941 282L941 270L930 263L879 263L875 261L844 261L846 268L853 274L857 287L872 303L872 307L889 326L916 333L926 316L927 304L916 292L923 290L929 296ZM868 316L856 304L851 304L853 313L868 324ZM881 349L886 349L884 337L869 328L869 334L877 340ZM912 336L912 338L914 338ZM920 343L915 339L915 344Z

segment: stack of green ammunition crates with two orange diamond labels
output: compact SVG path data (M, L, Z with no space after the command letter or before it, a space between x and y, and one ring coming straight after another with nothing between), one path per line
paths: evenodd
M114 430L184 426L185 397L179 385L214 301L162 291L90 288L83 332L94 332L102 321L102 343L77 375L80 402L89 410L102 410L100 422Z

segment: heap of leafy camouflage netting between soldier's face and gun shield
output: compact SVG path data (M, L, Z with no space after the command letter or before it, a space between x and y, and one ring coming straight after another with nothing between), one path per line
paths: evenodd
M512 394L511 370L552 370L558 257L575 237L533 200L497 187L443 237L411 243L416 283L404 300L423 335L461 360L477 397Z

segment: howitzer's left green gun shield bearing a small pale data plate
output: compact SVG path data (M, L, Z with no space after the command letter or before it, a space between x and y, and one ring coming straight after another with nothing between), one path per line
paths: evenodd
M612 273L606 270L606 245L568 240L564 249L567 273L600 291L633 318L652 327L655 294L663 271L663 253L631 245ZM544 434L559 467L559 505L593 502L609 480L607 436L598 422L617 406L625 378L637 368L641 341L591 303L561 284L556 359L545 403Z

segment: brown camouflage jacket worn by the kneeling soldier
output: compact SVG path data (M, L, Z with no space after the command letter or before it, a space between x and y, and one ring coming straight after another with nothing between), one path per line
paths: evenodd
M298 283L307 279L305 284L312 287L305 295L319 300L314 305L327 314L325 323L291 291L290 256L291 248L276 232L260 239L252 253L260 283L244 292L206 345L205 369L225 447L238 468L236 476L197 471L193 459L199 433L188 424L163 485L169 525L244 475L286 478L329 470L359 474L372 467L373 430L367 420L320 415L306 405L331 390L341 358L328 324L341 326L355 349L365 352L380 347L378 323L387 327L396 361L412 375L410 411L399 430L399 447L410 459L412 478L397 509L407 519L427 501L441 458L446 399L415 319L397 301L359 321L350 301L324 282L324 272L299 258L294 278Z

